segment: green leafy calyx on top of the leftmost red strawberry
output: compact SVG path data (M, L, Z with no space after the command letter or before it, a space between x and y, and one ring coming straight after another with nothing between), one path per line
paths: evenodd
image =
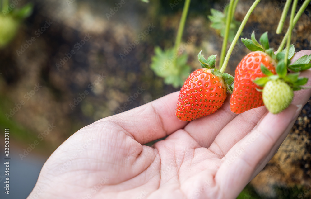
M234 77L228 73L221 73L218 69L216 69L216 56L215 54L209 56L207 60L201 55L202 50L197 55L199 62L201 63L202 68L211 69L211 73L217 77L223 78L226 83L227 90L232 93L233 92L233 82Z

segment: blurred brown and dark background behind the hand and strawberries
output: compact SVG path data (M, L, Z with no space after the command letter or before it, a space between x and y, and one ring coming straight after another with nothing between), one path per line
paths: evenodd
M239 1L231 31L252 2ZM228 4L191 1L177 64L159 70L158 66L172 61L170 50L176 43L184 1L4 0L0 146L4 153L4 129L9 128L11 161L10 195L2 188L0 198L26 198L49 155L80 128L178 91L187 74L200 67L201 49L205 57L220 55L224 16L214 12L220 16L217 27L208 16L213 15L211 8L225 15ZM270 45L277 49L284 35L275 33L284 4L262 0L242 37L269 31ZM311 49L309 9L293 31L296 52ZM226 72L234 75L248 52L239 41ZM311 197L310 105L311 101L276 155L238 198ZM4 171L2 158L1 184Z

